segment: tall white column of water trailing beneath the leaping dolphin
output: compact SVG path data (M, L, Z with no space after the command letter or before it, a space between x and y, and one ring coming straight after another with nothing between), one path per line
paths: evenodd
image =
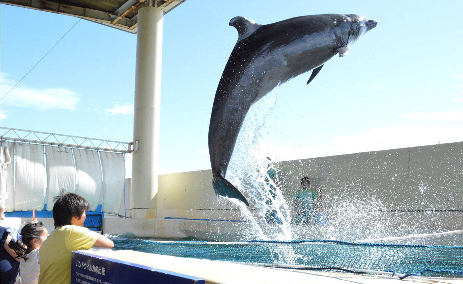
M234 200L244 216L255 226L249 237L266 240L290 240L291 214L279 185L267 175L269 160L272 153L262 147L260 141L265 140L267 133L265 121L276 106L279 88L269 93L249 110L238 135L235 150L230 159L226 179L231 181L250 202L250 207L241 205ZM264 114L264 115L262 115ZM270 194L275 188L275 197ZM271 204L268 204L268 200ZM275 210L282 224L269 224L265 218Z

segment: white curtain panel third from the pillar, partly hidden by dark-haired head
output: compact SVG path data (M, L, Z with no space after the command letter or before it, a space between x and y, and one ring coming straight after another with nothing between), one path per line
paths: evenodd
M76 173L72 149L66 147L45 146L47 163L47 210L53 209L53 197L62 189L75 193Z

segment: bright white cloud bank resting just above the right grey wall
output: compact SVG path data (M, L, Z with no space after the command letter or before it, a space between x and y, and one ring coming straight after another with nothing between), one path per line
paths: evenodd
M294 147L269 141L260 141L260 144L265 152L272 152L276 161L286 161L457 141L463 141L463 127L440 125L373 128L333 137L331 144L323 146Z

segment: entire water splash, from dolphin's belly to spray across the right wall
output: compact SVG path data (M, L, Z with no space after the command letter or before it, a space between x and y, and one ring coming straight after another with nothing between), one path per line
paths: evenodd
M429 212L425 210L422 218L420 217L422 221L425 220L426 222L426 226L424 226L422 222L420 223L420 218L416 218L416 213L392 210L399 207L382 203L385 195L393 194L394 187L385 188L380 195L374 196L368 194L369 190L359 187L359 183L362 182L360 179L342 179L342 176L330 186L331 188L326 188L328 193L323 195L324 208L317 212L325 216L326 224L317 222L307 225L292 224L294 216L291 215L292 205L289 205L288 201L292 203L293 200L286 200L282 193L285 190L294 190L294 188L288 189L275 184L267 176L269 160L266 157L272 157L272 151L266 149L266 144L263 143L271 141L269 134L271 132L266 129L265 121L277 105L277 90L278 88L251 107L238 135L235 151L227 171L227 180L232 182L250 202L250 206L247 207L237 200L224 198L224 200L228 200L226 202L232 202L238 206L244 218L249 221L249 224L252 224L252 229L249 230L249 226L246 226L245 230L247 231L241 232L241 236L244 236L243 240L330 239L353 241L449 230L440 224L442 218L447 218L444 216L447 213L436 213L433 208L424 208L429 210ZM309 165L301 165L301 167L306 166ZM295 171L290 174L292 180L300 179L300 176L303 176L302 173ZM397 176L394 173L390 178L395 180ZM269 193L270 186L276 188L275 198ZM423 183L418 187L419 191L424 194L428 185ZM433 198L432 196L420 197L419 195L411 195L410 197L423 199L423 203L427 203L427 198ZM269 199L272 199L271 204L266 203ZM397 200L397 204L402 204L403 201ZM277 216L281 219L282 224L266 222L265 215L272 210L277 211ZM417 223L409 222L412 215L418 220ZM237 229L239 228L237 227ZM402 241L402 243L437 244L440 240L434 239L431 243L426 243L428 241L411 239ZM447 239L446 243L451 244L460 241ZM275 258L277 257L284 256L275 256Z

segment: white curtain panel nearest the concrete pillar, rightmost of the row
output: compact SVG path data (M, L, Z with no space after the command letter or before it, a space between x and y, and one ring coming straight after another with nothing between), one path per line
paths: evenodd
M103 211L119 214L124 194L124 154L100 151L103 170Z

